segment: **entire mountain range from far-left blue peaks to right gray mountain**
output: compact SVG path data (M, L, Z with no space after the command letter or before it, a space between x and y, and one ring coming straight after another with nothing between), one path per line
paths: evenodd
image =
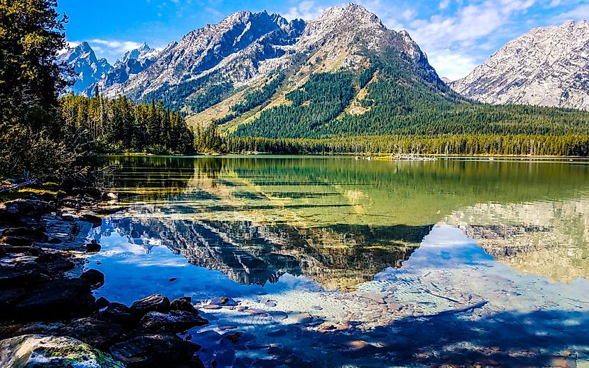
M114 66L96 60L87 43L62 57L79 75L77 93L98 86L109 98L162 100L194 127L216 121L238 137L506 134L513 121L521 125L509 133L530 134L544 110L475 100L589 109L588 28L567 22L530 31L456 82L438 76L406 31L387 29L353 3L308 22L235 13L161 51L141 45Z

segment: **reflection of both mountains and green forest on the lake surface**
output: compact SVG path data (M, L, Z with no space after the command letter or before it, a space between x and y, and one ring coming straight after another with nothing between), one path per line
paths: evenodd
M110 227L242 284L305 275L353 290L449 224L522 273L589 277L589 170L566 162L108 158ZM143 240L141 240L142 242ZM150 247L151 245L146 245Z

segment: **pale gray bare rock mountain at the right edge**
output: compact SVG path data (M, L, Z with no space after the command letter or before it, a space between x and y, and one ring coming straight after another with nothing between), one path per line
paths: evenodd
M589 110L589 22L532 29L450 86L481 102Z

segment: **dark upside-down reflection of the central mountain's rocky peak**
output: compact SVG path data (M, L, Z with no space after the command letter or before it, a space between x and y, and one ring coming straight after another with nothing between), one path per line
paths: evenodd
M112 218L100 235L116 229L147 252L165 246L195 266L220 270L241 284L274 283L288 273L326 289L352 290L388 267L401 267L432 225L346 226L295 229L286 224Z

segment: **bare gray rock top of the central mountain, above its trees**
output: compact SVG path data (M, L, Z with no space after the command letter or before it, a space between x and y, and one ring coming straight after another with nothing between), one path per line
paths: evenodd
M151 66L129 75L127 81L105 83L105 94L125 94L134 100L153 97L178 107L212 85L238 87L302 65L307 67L291 79L303 80L309 72L365 68L369 64L366 50L378 52L386 47L425 66L431 79L438 78L406 31L386 29L376 15L351 3L346 8L328 8L309 22L288 22L266 11L235 13L171 43Z

